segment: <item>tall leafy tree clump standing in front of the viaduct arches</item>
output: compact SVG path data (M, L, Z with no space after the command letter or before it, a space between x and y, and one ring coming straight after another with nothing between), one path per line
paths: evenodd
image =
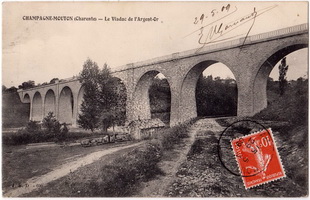
M126 93L119 79L111 75L105 64L99 69L97 63L88 59L80 73L80 82L85 87L81 114L78 123L86 129L103 131L115 124L123 124L126 115Z

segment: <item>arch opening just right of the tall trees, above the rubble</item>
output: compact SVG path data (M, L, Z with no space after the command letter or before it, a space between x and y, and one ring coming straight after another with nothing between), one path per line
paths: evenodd
M133 102L134 120L158 118L166 125L170 124L170 84L159 71L149 71L139 79Z

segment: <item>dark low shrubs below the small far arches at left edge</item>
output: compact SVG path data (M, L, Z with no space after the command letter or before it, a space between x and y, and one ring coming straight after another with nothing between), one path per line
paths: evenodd
M49 113L43 123L29 121L26 128L16 133L2 136L3 144L20 145L37 142L60 142L66 139L69 129L66 123L60 124L53 113Z

